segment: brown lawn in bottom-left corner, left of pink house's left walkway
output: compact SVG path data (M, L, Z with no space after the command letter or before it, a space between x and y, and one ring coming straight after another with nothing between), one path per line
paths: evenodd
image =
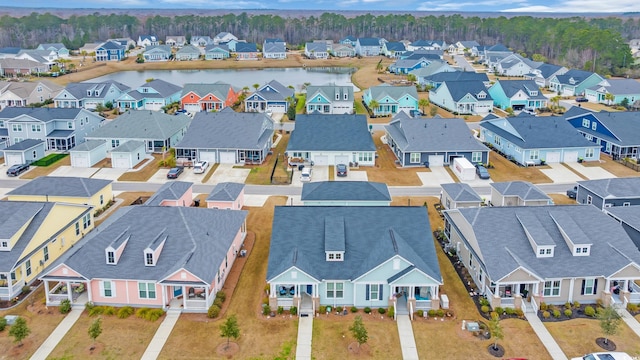
M49 337L53 329L64 319L57 308L46 308L44 305L44 286L40 286L35 293L13 309L0 310L0 316L18 315L27 320L31 334L18 347L9 336L9 327L0 332L1 359L28 359L38 347Z

